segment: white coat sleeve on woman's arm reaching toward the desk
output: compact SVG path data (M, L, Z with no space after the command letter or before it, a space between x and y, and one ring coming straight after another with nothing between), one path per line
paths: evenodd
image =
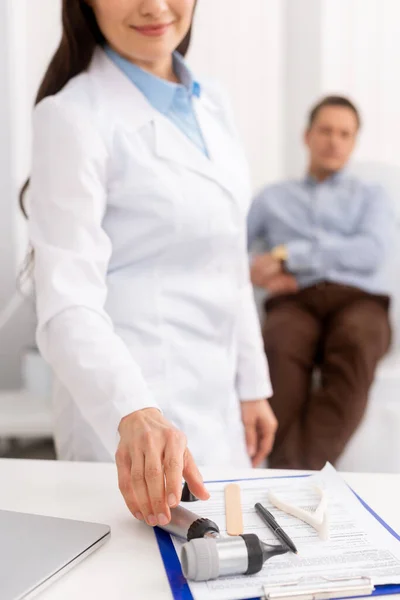
M120 420L156 403L104 308L112 250L102 227L108 153L91 115L57 98L37 107L33 139L38 347L113 455Z

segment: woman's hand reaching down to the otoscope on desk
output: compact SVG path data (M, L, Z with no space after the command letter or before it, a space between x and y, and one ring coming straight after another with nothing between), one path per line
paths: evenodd
M182 477L200 500L210 497L187 447L186 436L156 408L138 410L119 425L116 453L119 489L132 514L166 525L182 495Z

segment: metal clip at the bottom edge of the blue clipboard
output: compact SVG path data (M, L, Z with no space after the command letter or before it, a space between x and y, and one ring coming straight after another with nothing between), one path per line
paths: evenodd
M303 578L275 586L264 586L262 600L328 600L330 598L353 598L370 596L375 586L370 577L346 577L331 579L319 577L315 586L302 586ZM326 584L329 584L327 586Z

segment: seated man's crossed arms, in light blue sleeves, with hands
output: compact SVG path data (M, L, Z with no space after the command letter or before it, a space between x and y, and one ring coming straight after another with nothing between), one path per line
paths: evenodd
M390 201L380 186L367 192L363 214L353 231L315 227L309 237L293 239L285 245L256 255L252 260L253 285L271 294L297 291L296 276L329 271L372 275L387 256L392 238L393 213ZM268 240L268 211L263 195L254 201L249 222L249 245L256 238Z

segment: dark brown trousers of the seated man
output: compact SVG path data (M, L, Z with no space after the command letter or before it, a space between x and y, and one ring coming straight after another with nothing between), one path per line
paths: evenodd
M386 296L334 283L267 301L263 336L279 422L270 467L320 469L338 459L389 348L388 309Z

